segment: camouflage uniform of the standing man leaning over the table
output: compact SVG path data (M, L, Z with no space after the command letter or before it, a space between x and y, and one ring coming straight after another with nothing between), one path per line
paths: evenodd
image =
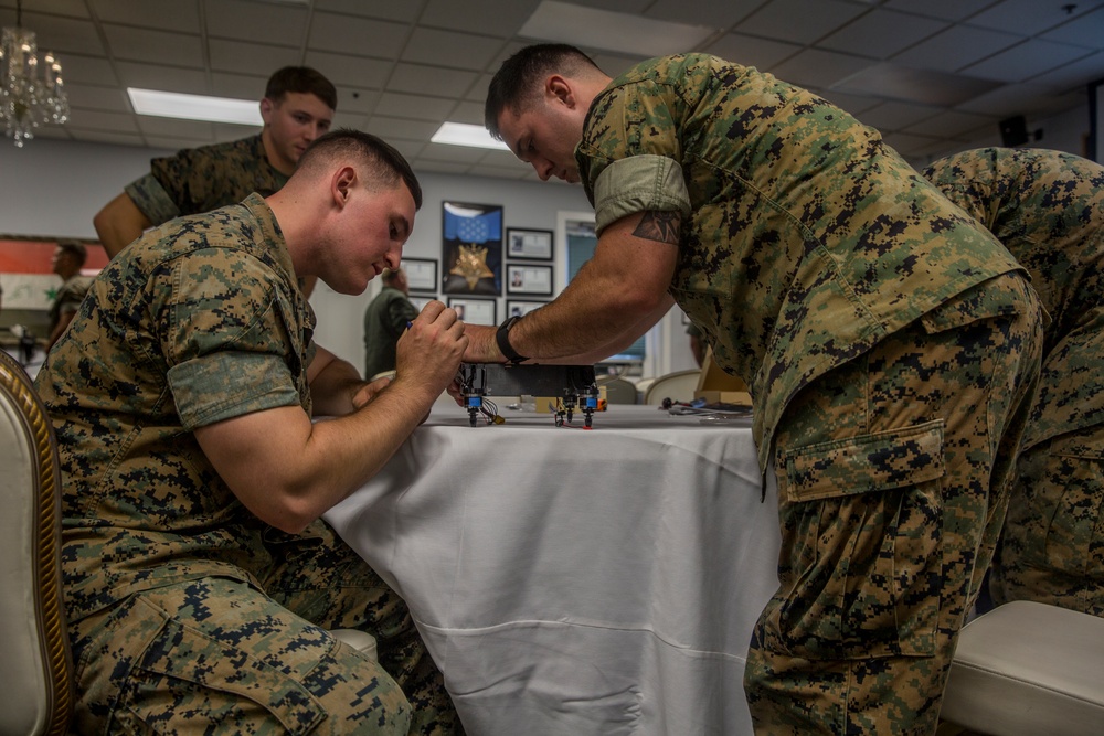
M782 526L756 730L932 733L1038 374L1017 264L875 130L710 56L613 81L576 159L599 232L682 213L670 292L751 386Z

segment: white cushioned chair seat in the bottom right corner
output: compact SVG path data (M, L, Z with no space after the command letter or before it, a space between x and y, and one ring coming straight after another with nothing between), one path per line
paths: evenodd
M1104 734L1104 618L1018 600L974 619L940 718L991 736Z

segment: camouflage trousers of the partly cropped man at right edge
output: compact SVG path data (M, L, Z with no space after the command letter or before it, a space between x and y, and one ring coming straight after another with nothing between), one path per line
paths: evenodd
M1104 426L1020 456L989 589L1104 616Z

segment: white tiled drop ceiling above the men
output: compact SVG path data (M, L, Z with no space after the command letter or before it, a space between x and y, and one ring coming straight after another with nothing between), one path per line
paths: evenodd
M540 1L24 0L23 25L59 55L73 108L68 125L38 136L157 149L240 138L250 129L135 115L125 88L259 99L273 71L306 64L338 87L336 125L382 136L416 170L532 179L507 151L429 136L444 120L482 124L487 85L532 42L519 32ZM999 142L1001 119L1031 127L1082 106L1104 77L1104 0L572 4L715 28L686 51L815 89L916 162ZM15 0L0 0L0 25L14 23ZM617 28L607 33L624 47ZM643 58L584 50L613 76Z

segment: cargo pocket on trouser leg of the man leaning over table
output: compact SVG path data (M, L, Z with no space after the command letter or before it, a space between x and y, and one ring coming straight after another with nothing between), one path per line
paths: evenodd
M935 651L943 420L783 454L792 590L777 631L796 657Z

